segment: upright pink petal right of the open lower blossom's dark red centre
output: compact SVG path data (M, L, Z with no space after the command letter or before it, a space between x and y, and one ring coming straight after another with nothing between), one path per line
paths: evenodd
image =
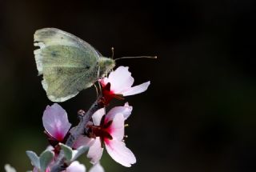
M125 133L125 118L122 114L116 114L113 118L113 122L108 128L108 131L113 139L122 141Z

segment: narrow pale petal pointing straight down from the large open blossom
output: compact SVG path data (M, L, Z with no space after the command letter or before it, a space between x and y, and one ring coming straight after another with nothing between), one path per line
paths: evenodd
M95 138L94 144L90 146L90 149L88 151L87 157L90 158L90 162L92 164L98 162L102 158L102 144L100 141L100 138Z

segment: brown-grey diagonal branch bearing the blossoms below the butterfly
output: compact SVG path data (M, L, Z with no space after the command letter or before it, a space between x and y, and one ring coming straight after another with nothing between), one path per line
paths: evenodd
M104 107L104 103L102 103L102 96L99 96L97 100L94 102L94 104L90 106L90 109L86 112L86 114L83 115L82 118L80 118L80 122L78 123L78 126L75 126L74 132L72 132L69 138L67 138L66 146L72 147L74 145L74 142L78 139L78 137L83 134L85 126L87 122L90 121L90 118L92 117L94 112L101 109L102 107ZM61 150L50 172L60 172L62 170L65 170L66 169L65 160L66 158L64 156L63 151Z

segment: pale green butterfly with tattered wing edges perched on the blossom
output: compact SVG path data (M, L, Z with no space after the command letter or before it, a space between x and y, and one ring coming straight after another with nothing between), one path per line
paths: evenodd
M34 46L39 46L34 50L38 75L43 75L42 87L52 102L73 98L115 66L89 43L56 28L36 30Z

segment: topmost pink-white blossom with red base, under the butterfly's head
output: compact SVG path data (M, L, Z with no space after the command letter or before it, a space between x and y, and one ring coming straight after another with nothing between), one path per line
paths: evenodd
M102 85L102 94L106 98L107 103L112 98L142 93L150 86L150 82L132 86L134 84L134 78L128 71L128 67L125 66L119 66L110 73L108 78L102 78L99 82Z

